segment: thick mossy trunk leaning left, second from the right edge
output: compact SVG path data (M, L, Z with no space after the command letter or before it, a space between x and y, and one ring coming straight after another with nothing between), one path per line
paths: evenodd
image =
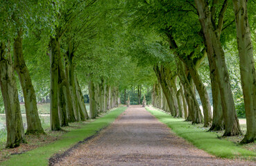
M223 136L236 136L241 133L241 130L237 113L234 109L230 78L228 68L225 65L225 55L219 40L219 33L215 32L216 30L214 31L214 26L211 21L211 12L206 1L195 0L195 3L199 14L199 21L203 28L207 56L208 58L212 57L214 59L214 68L216 68L225 123L225 133Z

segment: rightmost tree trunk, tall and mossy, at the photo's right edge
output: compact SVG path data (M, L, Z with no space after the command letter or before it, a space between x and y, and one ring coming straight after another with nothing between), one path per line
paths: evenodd
M237 46L247 127L246 136L244 136L241 143L249 143L256 140L256 74L253 44L248 22L247 1L233 0L233 6L237 26Z

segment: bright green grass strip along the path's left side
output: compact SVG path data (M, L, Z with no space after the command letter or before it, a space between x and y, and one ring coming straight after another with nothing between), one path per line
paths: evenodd
M108 114L89 122L80 129L74 129L65 133L60 140L50 143L49 145L39 147L37 149L27 151L25 154L18 154L10 156L9 160L0 163L0 165L48 165L49 158L56 153L62 153L63 151L69 149L73 145L76 145L77 142L93 136L97 131L103 127L107 127L108 124L113 122L127 107L119 107L110 111Z

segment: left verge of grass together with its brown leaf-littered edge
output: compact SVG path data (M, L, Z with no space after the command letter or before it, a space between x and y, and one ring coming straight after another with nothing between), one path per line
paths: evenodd
M0 165L49 165L49 158L61 156L65 151L97 136L99 131L114 122L126 109L127 107L114 108L101 113L96 119L70 123L69 127L62 128L63 131L49 131L47 135L38 136L38 138L34 136L28 139L26 136L27 144L14 149L0 149L0 156L3 157Z

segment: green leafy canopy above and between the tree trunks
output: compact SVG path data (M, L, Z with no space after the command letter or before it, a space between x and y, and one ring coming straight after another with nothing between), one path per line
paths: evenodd
M219 15L223 1L216 4ZM255 2L248 2L251 11ZM99 84L119 86L119 91L127 89L130 103L137 104L137 92L133 87L144 86L142 98L146 94L148 103L151 93L146 87L157 81L153 66L169 65L176 71L174 53L189 56L200 55L204 48L198 13L193 1L80 1L80 0L43 0L43 1L1 1L0 42L10 40L10 50L17 29L22 28L23 52L37 101L49 95L50 63L49 39L60 37L60 53L63 57L74 53L75 73L83 93L88 93L87 83L92 80ZM214 16L215 17L215 16ZM256 19L249 15L252 30ZM239 116L244 117L244 100L239 75L239 59L235 41L234 13L229 5L225 12L221 43L225 50L226 63L230 72L230 83L234 102ZM169 49L171 35L178 48ZM255 34L253 33L253 39ZM253 42L255 45L255 40ZM63 63L64 64L64 63ZM210 85L210 70L207 59L199 68L200 76L207 89ZM18 85L19 86L19 85ZM21 88L19 87L19 93ZM123 101L123 93L121 93ZM142 99L141 99L142 100ZM49 108L40 109L49 113ZM3 113L0 98L0 113ZM22 106L22 113L25 113Z

